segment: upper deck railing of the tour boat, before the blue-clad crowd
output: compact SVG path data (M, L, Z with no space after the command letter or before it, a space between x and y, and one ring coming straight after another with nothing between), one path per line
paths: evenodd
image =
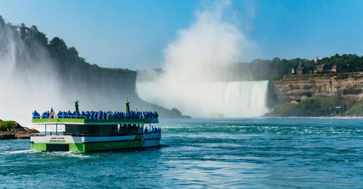
M62 119L87 119L87 120L133 120L133 119L148 119L148 118L156 118L158 116L101 116L94 119L90 116L51 116L50 118L62 118ZM33 119L48 119L49 116L32 116Z

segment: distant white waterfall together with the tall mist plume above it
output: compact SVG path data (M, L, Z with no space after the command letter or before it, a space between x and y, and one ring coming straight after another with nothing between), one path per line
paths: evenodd
M227 1L197 12L195 23L178 31L177 39L164 50L165 73L155 82L136 83L142 99L193 117L213 111L228 117L261 116L268 111L268 81L218 82L224 79L216 69L246 60L257 49L235 25L222 19L228 5Z

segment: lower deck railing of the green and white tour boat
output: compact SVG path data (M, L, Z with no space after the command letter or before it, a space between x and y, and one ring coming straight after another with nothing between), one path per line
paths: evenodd
M85 133L32 133L30 136L72 136L72 137L115 137L115 136L129 136L142 134L142 132L128 132L128 133L98 133L98 134L85 134Z

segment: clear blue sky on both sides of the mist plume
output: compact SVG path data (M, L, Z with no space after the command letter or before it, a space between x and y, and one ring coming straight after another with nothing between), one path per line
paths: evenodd
M217 2L218 3L218 2ZM8 1L0 15L58 36L91 64L162 67L163 51L196 12L216 1ZM231 1L223 21L235 25L259 51L246 59L314 59L363 55L363 1Z

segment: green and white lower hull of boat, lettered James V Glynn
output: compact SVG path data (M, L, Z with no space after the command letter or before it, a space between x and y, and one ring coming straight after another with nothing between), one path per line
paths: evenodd
M156 147L160 145L160 138L161 133L107 137L32 136L30 137L30 149L87 152Z

